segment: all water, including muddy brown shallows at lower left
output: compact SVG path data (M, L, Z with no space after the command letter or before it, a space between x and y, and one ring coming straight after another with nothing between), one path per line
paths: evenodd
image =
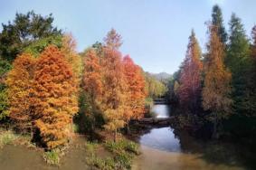
M171 114L167 105L155 105L156 117ZM43 152L25 146L5 146L0 149L0 170L72 170L90 169L86 165L86 139L78 137L62 157L60 166L47 165ZM246 147L232 143L209 142L176 132L172 127L152 128L140 135L141 155L132 166L134 170L242 170L256 169L255 156L247 156ZM244 155L245 154L245 155ZM248 158L249 157L249 158ZM254 159L254 160L253 160ZM251 166L254 164L254 166Z

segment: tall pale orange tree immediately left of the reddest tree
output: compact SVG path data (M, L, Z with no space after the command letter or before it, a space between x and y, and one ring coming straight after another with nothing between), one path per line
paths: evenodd
M106 120L104 127L114 133L116 141L118 129L125 125L124 115L128 110L126 103L128 88L121 62L121 53L109 48L105 48L103 51L103 90L100 107Z

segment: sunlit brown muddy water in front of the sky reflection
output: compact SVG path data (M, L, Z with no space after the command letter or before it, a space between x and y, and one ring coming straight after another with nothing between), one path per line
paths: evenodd
M133 165L134 170L244 170L239 165L225 165L209 163L201 154L167 152L149 146L141 146L141 156L138 156Z

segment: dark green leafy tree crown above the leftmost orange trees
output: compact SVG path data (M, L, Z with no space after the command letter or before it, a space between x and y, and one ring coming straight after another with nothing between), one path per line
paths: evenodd
M24 52L33 42L37 50L45 43L52 42L55 36L62 35L62 31L52 25L52 14L43 17L33 11L27 14L16 14L14 22L3 24L0 33L0 55L8 61L13 61L17 54ZM43 41L42 41L43 39ZM53 41L55 42L55 41Z

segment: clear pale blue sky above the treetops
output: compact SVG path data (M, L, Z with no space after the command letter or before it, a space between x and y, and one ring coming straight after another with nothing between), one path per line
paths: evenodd
M0 23L13 21L17 12L52 13L53 24L72 33L78 52L102 42L114 28L122 36L123 55L129 54L145 71L173 73L185 58L192 29L204 51L205 22L211 20L215 4L223 10L227 30L234 12L251 34L255 0L0 0Z

